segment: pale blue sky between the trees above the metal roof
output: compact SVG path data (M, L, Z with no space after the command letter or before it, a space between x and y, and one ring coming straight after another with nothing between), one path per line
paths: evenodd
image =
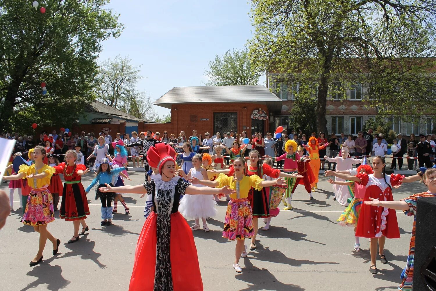
M173 87L207 82L208 61L245 47L252 37L246 0L111 0L107 8L121 14L126 28L102 43L100 60L121 55L142 65L138 89L152 101ZM159 116L169 112L154 109Z

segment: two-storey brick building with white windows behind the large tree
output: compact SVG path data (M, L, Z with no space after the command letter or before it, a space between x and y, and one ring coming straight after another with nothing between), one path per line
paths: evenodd
M282 110L279 115L273 116L273 124L275 127L283 126L289 123L291 118L290 110L293 102L298 95L301 82L276 82L279 74L266 74L267 87L279 97L282 103ZM333 84L333 86L341 86ZM351 88L344 90L343 94L331 94L327 96L326 120L328 134L354 134L359 130L364 129L364 124L369 118L375 118L377 111L375 109L368 110L365 108L365 98L367 97L368 85L357 82L351 85ZM433 109L433 111L436 110ZM407 109L401 114L407 115ZM420 116L413 123L402 121L400 116L392 116L385 118L386 121L392 123L391 129L396 133L406 135L410 134L431 134L436 130L436 114Z

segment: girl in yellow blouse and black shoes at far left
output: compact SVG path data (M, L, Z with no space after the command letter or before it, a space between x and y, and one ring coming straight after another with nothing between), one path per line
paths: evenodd
M39 264L42 261L42 252L44 251L47 239L53 243L53 254L58 253L60 240L54 238L47 230L47 224L54 220L53 198L48 185L50 184L51 175L56 170L44 164L45 148L36 146L33 152L35 164L27 166L20 165L17 175L6 176L6 180L26 179L27 184L32 188L28 198L27 206L24 212L23 223L33 226L39 233L39 249L37 255L30 262L30 266Z

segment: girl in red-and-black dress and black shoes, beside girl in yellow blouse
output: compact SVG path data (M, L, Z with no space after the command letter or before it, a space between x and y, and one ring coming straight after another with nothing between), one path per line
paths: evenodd
M85 223L85 218L89 215L88 199L83 188L81 176L89 172L84 164L76 164L77 153L68 150L65 154L66 163L54 166L58 174L64 174L64 188L62 191L63 199L61 202L60 217L66 221L72 221L74 234L68 243L75 243L79 240L89 227ZM82 224L82 232L79 233L79 226Z

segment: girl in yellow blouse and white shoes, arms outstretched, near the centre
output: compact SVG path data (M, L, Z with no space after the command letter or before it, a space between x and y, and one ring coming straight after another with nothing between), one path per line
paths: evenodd
M252 212L247 200L250 188L253 187L260 191L263 187L283 185L286 182L283 181L282 178L265 181L259 178L258 175L252 175L250 177L244 176L245 160L242 157L235 158L235 161L233 161L233 169L235 170L235 174L230 177L220 173L215 181L204 181L198 178L191 178L188 181L192 184L199 183L201 185L217 188L229 186L230 189L236 191L230 194L222 236L229 240L236 240L235 263L233 264L233 268L236 272L241 273L242 269L239 267L239 258L247 256L247 246L244 244L244 240L245 238L251 238L254 234Z

